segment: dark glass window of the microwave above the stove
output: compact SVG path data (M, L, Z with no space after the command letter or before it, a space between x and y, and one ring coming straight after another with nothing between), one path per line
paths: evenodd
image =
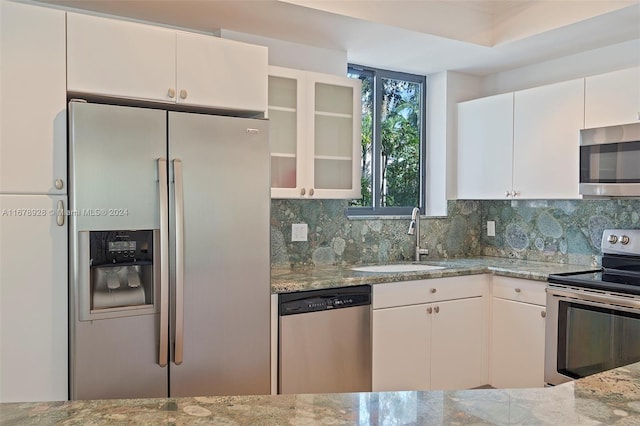
M580 147L580 182L640 183L640 142Z

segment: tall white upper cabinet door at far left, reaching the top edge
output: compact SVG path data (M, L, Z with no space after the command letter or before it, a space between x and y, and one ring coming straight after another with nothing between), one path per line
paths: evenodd
M65 13L3 1L0 64L0 192L66 193Z

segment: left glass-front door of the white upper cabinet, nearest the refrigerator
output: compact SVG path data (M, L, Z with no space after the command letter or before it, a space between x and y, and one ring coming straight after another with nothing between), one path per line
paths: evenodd
M269 67L271 198L306 195L303 176L305 72ZM303 190L305 190L303 194Z

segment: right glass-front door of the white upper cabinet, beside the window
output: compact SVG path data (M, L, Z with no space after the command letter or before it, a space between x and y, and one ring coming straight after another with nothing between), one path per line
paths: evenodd
M360 198L361 82L308 73L307 195Z

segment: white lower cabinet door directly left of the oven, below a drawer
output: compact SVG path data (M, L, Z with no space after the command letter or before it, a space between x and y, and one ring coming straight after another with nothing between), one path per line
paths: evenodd
M491 320L491 385L544 386L544 306L494 297Z

